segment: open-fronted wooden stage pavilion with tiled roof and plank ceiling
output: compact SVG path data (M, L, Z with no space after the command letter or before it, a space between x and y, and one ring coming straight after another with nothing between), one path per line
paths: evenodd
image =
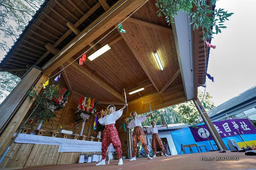
M75 122L79 96L95 98L98 101L97 111L109 104L119 109L125 101L125 89L128 111L123 112L117 124L133 110L138 114L149 112L148 101L152 110L158 110L193 100L217 146L226 149L205 110L199 109L203 106L197 99L197 89L205 83L208 60L208 47L204 46L202 29L193 31L189 25L190 18L184 12L179 12L175 23L168 25L164 17L157 17L156 11L155 0L45 0L0 63L0 71L22 77L0 105L0 155L3 155L13 134L31 111L32 102L27 90L32 86L42 86L48 76L59 71L60 87L71 92L64 109L55 112L55 118L62 126ZM132 12L134 14L127 18ZM126 33L114 29L122 21ZM114 31L109 33L112 29ZM108 36L102 39L106 34ZM111 47L110 50L93 61L87 59L79 65L77 58L81 54L93 46L86 53L89 57L106 44ZM159 55L162 70L154 52ZM144 90L128 94L140 88ZM89 127L83 133L87 136L86 140L97 135L99 126L97 130L92 130L90 125L93 122L89 119L86 123ZM36 126L36 123L25 125L32 131ZM48 122L41 129L46 131L43 136L50 136L49 132L54 130ZM117 129L123 156L129 157L125 153L128 148L131 150L131 139L123 128ZM74 129L73 133L79 131ZM80 152L58 152L58 147L14 143L0 168L19 169L78 162Z

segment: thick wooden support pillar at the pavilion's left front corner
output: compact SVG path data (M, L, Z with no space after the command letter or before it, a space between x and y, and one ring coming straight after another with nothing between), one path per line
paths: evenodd
M32 67L1 104L0 156L7 149L12 135L32 106L32 101L27 96L27 90L32 86L42 87L42 83L48 79L48 76L41 75L41 70L38 67Z

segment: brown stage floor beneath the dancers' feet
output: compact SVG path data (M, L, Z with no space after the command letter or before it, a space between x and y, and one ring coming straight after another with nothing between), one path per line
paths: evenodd
M211 157L213 161L201 161L201 157ZM215 157L238 157L238 161L216 161ZM136 161L123 160L123 165L117 165L118 160L110 161L109 165L95 166L96 162L81 164L54 165L27 168L26 170L201 170L201 169L255 169L256 156L246 156L244 152L219 153L203 152L195 154L157 157L153 160L139 158ZM107 163L107 161L106 161Z

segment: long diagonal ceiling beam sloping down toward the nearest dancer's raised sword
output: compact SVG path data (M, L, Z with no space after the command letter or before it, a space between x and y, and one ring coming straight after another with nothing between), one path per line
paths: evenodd
M73 60L69 59L68 62L71 63ZM96 77L92 72L90 72L89 70L87 70L84 66L79 65L77 62L73 62L72 66L75 70L79 71L80 73L82 73L82 75L84 75L87 79L91 80L92 82L98 84L101 88L105 89L107 92L113 94L115 97L117 97L118 99L120 99L121 101L124 101L124 97L121 96L121 94L119 92L117 92L116 90L114 90L112 87L110 87L108 84L106 84L105 82L103 82L101 79L99 79L98 77Z

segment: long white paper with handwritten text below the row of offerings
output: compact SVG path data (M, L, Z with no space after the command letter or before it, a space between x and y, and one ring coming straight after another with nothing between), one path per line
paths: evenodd
M16 143L23 144L51 144L59 145L58 152L100 152L101 142L64 139L49 136L38 136L30 134L19 134ZM110 144L110 151L116 151Z

